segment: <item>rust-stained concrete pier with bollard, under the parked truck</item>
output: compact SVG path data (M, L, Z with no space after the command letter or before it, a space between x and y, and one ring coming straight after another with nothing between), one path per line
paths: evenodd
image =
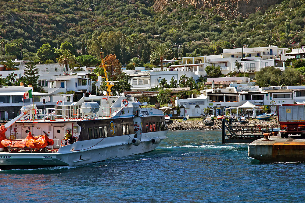
M261 162L304 162L305 139L271 136L270 140L258 139L248 145L248 155Z

